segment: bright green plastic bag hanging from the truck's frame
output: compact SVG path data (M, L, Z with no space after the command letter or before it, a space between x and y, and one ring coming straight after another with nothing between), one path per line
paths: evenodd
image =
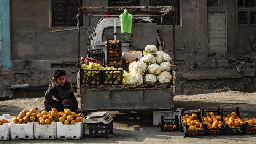
M127 9L124 10L124 13L119 16L121 21L121 33L132 32L132 17L133 15L129 14Z

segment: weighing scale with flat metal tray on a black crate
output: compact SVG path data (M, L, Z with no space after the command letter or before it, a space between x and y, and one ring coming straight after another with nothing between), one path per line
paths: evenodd
M99 111L99 112L91 112L86 116L84 123L86 124L104 124L107 125L108 123L113 121L113 118L106 114L107 111Z

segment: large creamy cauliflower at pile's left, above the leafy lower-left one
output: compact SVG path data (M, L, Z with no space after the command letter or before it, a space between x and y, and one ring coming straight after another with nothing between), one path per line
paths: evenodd
M143 74L148 68L148 65L144 62L132 62L129 65L129 71L132 74Z

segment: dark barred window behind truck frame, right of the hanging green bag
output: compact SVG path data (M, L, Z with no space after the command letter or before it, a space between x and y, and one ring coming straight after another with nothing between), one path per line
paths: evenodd
M150 0L151 6L173 6L174 24L180 25L180 0ZM152 16L153 22L161 25L161 16ZM163 17L163 25L172 25L172 12Z

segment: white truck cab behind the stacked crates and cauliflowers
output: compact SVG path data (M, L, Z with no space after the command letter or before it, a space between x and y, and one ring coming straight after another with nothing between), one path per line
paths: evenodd
M132 22L133 24L152 23L152 19L150 17L134 17ZM105 47L106 40L122 40L122 51L138 50L132 46L132 33L121 33L119 17L102 17L97 27L93 28L92 33L89 34L90 42L87 48L88 50L103 49L105 52L107 51ZM145 47L141 48L144 49ZM159 33L157 33L157 48L162 49Z

